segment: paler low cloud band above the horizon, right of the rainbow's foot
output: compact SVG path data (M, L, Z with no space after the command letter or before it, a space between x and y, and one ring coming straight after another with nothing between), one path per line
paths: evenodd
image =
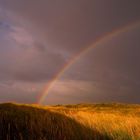
M136 86L135 86L136 87ZM46 95L44 104L125 102L139 103L139 86L110 85L92 81L59 80Z

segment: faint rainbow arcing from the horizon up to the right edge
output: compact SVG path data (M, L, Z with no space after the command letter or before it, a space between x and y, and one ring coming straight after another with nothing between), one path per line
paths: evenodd
M89 52L94 47L101 45L101 44L109 41L110 39L112 39L112 38L114 38L122 33L125 33L129 30L132 30L132 29L135 29L136 27L139 27L139 25L140 25L140 21L136 21L136 22L127 24L123 27L120 27L118 29L115 29L115 30L105 34L104 36L97 38L90 46L80 50L80 52L78 52L76 55L74 55L70 59L70 61L67 64L65 64L62 67L62 69L52 78L52 80L49 83L47 83L47 85L45 86L44 90L42 91L37 103L38 104L43 103L43 101L45 100L45 97L48 95L49 91L53 88L53 86L55 85L57 80L63 75L63 73L66 72L76 61L78 61L87 52Z

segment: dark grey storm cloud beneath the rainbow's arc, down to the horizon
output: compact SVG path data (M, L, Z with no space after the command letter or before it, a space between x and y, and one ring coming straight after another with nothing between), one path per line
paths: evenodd
M64 83L67 83L67 86L63 83L60 89L67 87L65 92L52 89L50 93L61 95L60 97L67 96L61 99L67 102L71 96L75 96L74 99L78 98L77 101L80 99L80 102L84 102L87 97L89 101L94 102L139 103L139 36L140 26L93 48L63 75L62 81L65 79L67 82ZM70 82L70 79L74 82ZM59 85L59 82L57 84ZM75 87L78 88L75 90ZM55 88L59 89L57 86ZM71 91L72 95L69 95L68 89L77 93ZM82 96L84 93L85 97ZM46 102L49 102L53 94L48 96ZM58 103L61 100L59 99Z

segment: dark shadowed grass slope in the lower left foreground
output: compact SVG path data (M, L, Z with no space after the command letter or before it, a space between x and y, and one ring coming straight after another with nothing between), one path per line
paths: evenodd
M0 140L110 140L75 120L48 110L0 105Z

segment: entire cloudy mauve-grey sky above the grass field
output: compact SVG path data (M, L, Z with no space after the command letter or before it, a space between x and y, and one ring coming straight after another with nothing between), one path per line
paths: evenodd
M140 103L139 52L139 0L0 0L0 102Z

